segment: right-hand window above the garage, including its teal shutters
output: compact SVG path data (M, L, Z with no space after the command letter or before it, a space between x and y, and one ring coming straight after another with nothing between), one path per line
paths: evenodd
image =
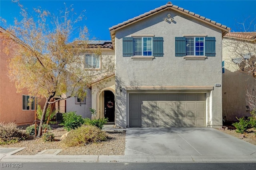
M175 37L175 56L216 56L215 44L215 37Z

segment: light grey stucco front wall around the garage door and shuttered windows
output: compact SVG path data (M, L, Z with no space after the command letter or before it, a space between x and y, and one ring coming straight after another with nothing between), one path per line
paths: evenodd
M171 14L174 21L164 18ZM132 60L122 56L122 38L153 34L164 38L164 56L154 60ZM175 37L206 34L216 38L216 56L206 60L175 57ZM172 10L165 10L116 31L116 90L119 86L214 86L222 84L222 31ZM174 91L169 90L167 93ZM192 91L185 91L192 92ZM194 92L194 91L193 91ZM203 92L203 91L200 91ZM206 93L207 126L222 125L222 87ZM129 125L129 91L116 93L116 125Z

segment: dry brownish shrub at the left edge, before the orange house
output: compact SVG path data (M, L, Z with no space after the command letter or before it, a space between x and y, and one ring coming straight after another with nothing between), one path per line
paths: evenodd
M0 123L0 144L16 143L25 140L28 136L17 124L9 122L8 124Z

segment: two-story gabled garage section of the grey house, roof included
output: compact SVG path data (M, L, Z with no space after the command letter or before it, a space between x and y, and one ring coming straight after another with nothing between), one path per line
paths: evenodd
M109 30L116 126L222 126L222 37L230 28L168 2Z

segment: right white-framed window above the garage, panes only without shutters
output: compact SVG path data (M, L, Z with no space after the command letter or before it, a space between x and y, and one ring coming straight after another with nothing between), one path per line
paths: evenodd
M204 37L186 37L186 56L204 56Z

